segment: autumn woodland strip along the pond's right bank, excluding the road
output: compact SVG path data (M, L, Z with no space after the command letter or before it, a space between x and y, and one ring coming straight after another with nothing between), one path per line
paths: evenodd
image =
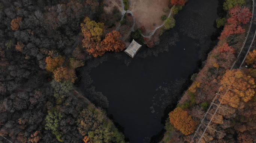
M170 112L162 143L191 142L199 124L206 124L201 118L214 101L222 104L210 108L205 120L211 122L206 125L204 134L198 130L196 136L199 137L193 142L256 142L255 44L241 70L230 70L250 27L252 1L225 0L222 9L227 15L219 15L220 18L216 19L216 26L222 29L219 42L208 54L204 67L191 76L192 85ZM217 98L213 101L215 96ZM201 140L198 140L201 135Z

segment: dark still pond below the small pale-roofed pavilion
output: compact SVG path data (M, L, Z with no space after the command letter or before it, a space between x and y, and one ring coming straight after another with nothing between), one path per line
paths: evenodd
M109 53L80 69L81 89L92 93L86 96L101 98L102 102L92 100L103 107L107 107L103 103L107 97L108 113L124 127L131 143L143 143L144 137L164 127L160 123L164 109L153 104L156 89L163 83L188 79L193 73L216 31L217 6L217 0L189 0L176 16L176 26L161 36L158 46L142 47L133 59L124 52ZM95 90L88 89L91 86ZM154 113L150 107L154 107Z

